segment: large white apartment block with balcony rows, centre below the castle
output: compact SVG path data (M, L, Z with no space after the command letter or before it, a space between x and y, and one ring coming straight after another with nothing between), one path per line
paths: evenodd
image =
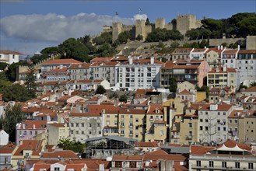
M120 89L136 90L160 87L160 68L163 62L150 59L129 58L119 66L117 86Z

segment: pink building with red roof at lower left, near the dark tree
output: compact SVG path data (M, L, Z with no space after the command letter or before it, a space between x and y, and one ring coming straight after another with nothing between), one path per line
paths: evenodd
M46 120L25 120L23 123L16 125L16 145L19 145L20 141L30 140L41 134L47 132Z

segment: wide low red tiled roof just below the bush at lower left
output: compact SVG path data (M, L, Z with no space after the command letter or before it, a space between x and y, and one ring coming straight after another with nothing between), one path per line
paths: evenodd
M63 150L63 151L54 151L54 152L44 152L41 158L75 158L79 159L75 152L71 150Z

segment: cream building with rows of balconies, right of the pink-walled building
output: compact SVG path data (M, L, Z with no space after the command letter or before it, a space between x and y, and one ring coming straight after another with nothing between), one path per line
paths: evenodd
M237 85L237 69L228 68L226 65L212 69L208 72L207 86L212 87L239 87Z

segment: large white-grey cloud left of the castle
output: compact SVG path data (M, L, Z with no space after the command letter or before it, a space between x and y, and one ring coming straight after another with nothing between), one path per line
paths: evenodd
M7 16L1 19L0 26L6 37L24 38L27 35L28 40L61 42L68 37L100 33L103 25L110 26L117 21L133 23L133 19L100 16L95 13L79 13L76 16L48 13Z

